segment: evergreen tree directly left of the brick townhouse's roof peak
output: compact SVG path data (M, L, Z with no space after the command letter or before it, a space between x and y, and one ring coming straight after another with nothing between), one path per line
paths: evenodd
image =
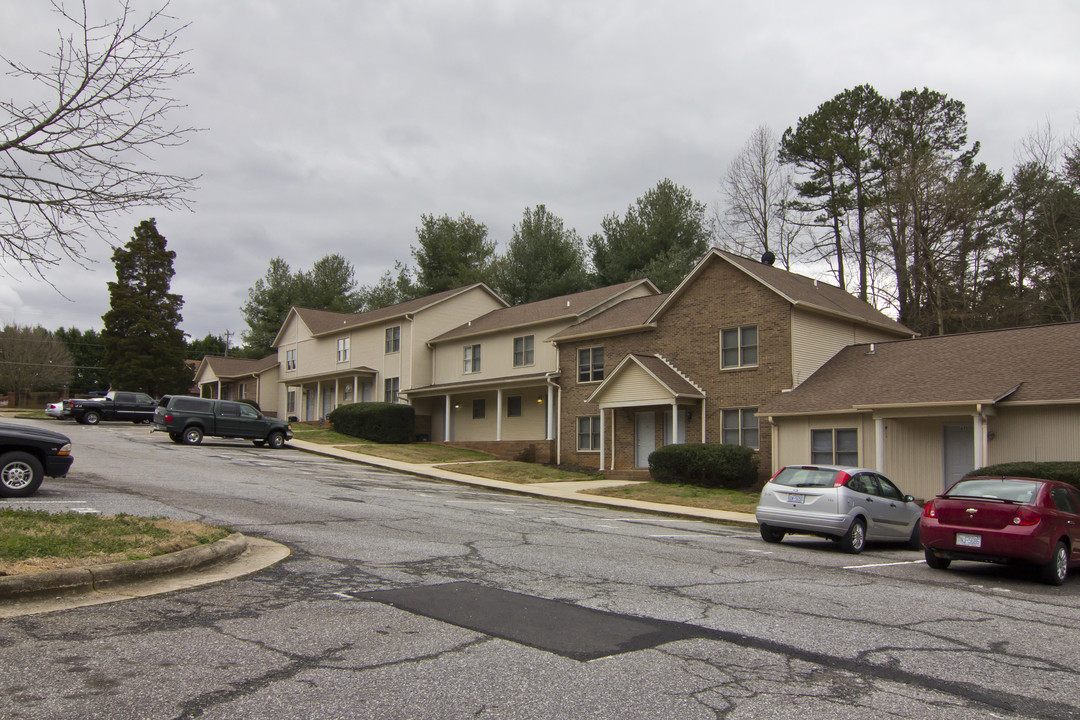
M666 178L600 227L589 239L598 286L645 277L671 290L708 249L704 203Z

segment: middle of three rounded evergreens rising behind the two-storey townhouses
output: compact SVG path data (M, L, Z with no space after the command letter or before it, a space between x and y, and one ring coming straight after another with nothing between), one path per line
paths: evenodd
M499 259L496 279L499 293L511 304L588 289L584 244L544 205L526 207Z

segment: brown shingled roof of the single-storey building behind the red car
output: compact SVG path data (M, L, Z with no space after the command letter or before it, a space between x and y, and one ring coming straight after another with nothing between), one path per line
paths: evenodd
M1080 403L1080 323L845 348L759 415Z

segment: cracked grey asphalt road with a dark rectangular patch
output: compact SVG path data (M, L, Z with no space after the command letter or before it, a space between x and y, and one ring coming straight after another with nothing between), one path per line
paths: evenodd
M0 621L6 719L1080 718L1080 578L62 427L71 474L16 504L201 519L293 555Z

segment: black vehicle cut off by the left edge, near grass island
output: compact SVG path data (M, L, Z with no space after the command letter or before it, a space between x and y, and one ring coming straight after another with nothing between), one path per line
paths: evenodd
M71 462L71 440L66 435L0 423L0 498L32 495L45 476L67 475Z

